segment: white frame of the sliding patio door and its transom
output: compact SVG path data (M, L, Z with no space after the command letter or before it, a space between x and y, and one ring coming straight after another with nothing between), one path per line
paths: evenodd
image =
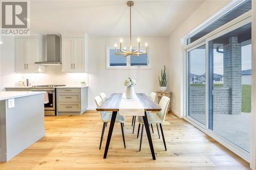
M200 32L201 30L203 30L205 27L207 27L208 25L210 25L210 23L216 21L217 19L219 19L220 17L222 17L223 15L225 15L227 12L231 11L232 9L236 8L237 6L239 6L240 4L242 4L243 2L245 2L245 0L241 0L241 1L232 1L230 4L228 4L226 7L224 7L223 9L221 9L216 15L210 17L209 19L207 19L207 21L203 22L202 25L200 25L199 27L197 27L195 30L193 30L192 32L190 32L188 35L186 35L185 37L182 38L182 46L183 46L183 57L182 57L182 76L183 79L181 80L181 84L182 84L182 101L181 103L182 108L181 110L184 112L184 119L187 120L187 122L189 122L190 124L194 125L195 127L197 127L199 130L201 130L202 132L204 132L205 134L209 135L210 137L214 138L215 140L217 140L219 143L221 143L222 145L224 145L227 149L229 149L230 151L232 151L233 153L237 154L238 156L240 156L241 158L243 158L245 161L250 162L250 154L252 153L248 153L246 151L244 151L243 149L239 148L236 144L228 141L227 139L225 139L224 137L222 137L221 135L215 133L214 131L208 129L208 103L209 103L209 93L208 93L208 42L212 39L215 39L221 35L224 35L232 30L235 30L237 28L240 28L244 25L246 25L247 23L252 22L252 10L244 13L243 15L233 19L232 21L226 23L225 25L221 26L220 28L208 33L207 35L199 38L198 40L190 43L190 44L186 44L186 40L187 38L197 34L198 32ZM228 9L228 10L227 10ZM193 118L188 117L188 112L187 112L187 107L188 107L188 101L187 101L187 52L193 48L195 48L196 46L200 46L200 44L206 44L206 91L205 91L205 96L206 96L206 110L205 110L205 126L202 124L199 124L197 121L194 121Z

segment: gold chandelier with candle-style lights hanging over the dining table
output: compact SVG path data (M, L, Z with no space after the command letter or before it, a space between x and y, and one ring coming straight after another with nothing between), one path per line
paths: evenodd
M117 44L115 44L115 55L124 55L124 57L127 56L137 56L142 54L147 54L147 43L145 43L145 53L140 52L140 39L137 39L137 49L133 50L132 47L132 12L131 12L131 7L134 5L133 1L127 2L127 6L130 7L130 43L129 43L129 49L126 50L125 47L123 47L123 40L120 39L120 52L117 53Z

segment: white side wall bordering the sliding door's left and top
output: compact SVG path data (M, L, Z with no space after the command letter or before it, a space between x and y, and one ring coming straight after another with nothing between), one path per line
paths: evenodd
M169 36L169 87L172 91L172 111L179 117L184 116L181 96L182 89L182 62L183 50L181 39L190 31L199 26L207 18L227 5L229 1L205 1L193 14L191 14L172 34Z

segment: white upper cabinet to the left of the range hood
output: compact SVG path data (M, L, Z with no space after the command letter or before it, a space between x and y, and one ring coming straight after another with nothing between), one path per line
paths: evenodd
M15 72L45 72L44 65L35 64L46 57L46 37L43 35L15 37Z

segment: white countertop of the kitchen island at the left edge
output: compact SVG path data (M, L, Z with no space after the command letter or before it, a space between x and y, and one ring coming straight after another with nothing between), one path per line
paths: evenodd
M13 99L13 98L22 98L29 95L36 95L45 93L44 91L0 91L0 101Z

